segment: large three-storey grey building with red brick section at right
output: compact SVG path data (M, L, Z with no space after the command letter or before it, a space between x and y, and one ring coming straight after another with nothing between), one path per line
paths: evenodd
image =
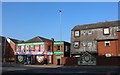
M113 42L118 41L119 23L110 21L77 25L71 30L71 55L78 58L78 65L96 65L97 55L119 55L117 48L120 44Z

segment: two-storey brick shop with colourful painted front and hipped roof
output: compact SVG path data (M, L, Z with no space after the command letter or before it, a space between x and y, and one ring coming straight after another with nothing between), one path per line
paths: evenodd
M37 36L24 43L17 44L16 63L52 64L53 41Z

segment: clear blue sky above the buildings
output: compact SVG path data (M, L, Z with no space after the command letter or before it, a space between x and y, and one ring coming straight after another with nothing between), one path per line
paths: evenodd
M61 24L60 12L61 10ZM2 36L29 40L36 36L71 41L76 25L118 20L117 2L3 2Z

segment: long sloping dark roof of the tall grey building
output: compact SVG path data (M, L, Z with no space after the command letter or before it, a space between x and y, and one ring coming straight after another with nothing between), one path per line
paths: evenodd
M115 27L115 26L120 26L120 20L77 25L72 30L86 30L86 29L106 28L106 27Z

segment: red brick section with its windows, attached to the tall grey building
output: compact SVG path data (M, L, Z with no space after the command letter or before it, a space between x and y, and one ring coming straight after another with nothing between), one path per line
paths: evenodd
M106 56L106 57L120 56L120 48L119 48L120 31L116 31L116 34L117 34L117 38L98 40L99 56Z

